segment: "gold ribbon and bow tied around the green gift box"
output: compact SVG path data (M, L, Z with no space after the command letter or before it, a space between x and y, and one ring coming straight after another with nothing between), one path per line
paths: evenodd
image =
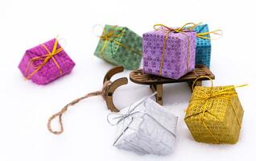
M114 27L117 27L117 26L114 26ZM138 55L142 55L142 52L138 52L138 51L134 50L133 48L130 48L130 47L126 46L125 44L122 44L115 40L115 38L122 37L122 35L123 35L122 32L120 32L119 34L115 34L114 29L109 30L109 32L106 32L105 28L103 29L103 34L101 36L99 36L100 39L104 40L103 47L101 48L101 58L104 59L103 53L105 51L105 47L108 42L117 43L118 45L125 47L127 50L129 50L131 52L135 52Z

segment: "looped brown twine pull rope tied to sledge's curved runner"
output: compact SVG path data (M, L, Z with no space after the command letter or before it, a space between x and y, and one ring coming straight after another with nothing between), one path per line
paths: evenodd
M83 97L77 98L76 100L68 103L68 105L65 105L64 108L62 108L58 113L53 114L47 122L47 129L52 133L52 134L62 134L64 131L64 127L63 127L63 122L62 122L62 115L68 111L68 108L72 105L76 105L76 103L78 103L81 100L84 100L85 98L88 97L94 97L94 96L99 96L101 95L103 97L103 99L105 100L106 96L107 96L107 91L109 89L109 85L111 85L111 81L105 81L105 83L103 84L103 87L100 91L95 91L93 93L88 93ZM59 117L59 124L60 124L60 130L52 130L52 121Z

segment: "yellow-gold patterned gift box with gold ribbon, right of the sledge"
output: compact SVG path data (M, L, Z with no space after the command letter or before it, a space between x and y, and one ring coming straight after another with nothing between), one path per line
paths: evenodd
M193 89L184 121L197 142L237 142L244 110L235 88L242 86L213 87L212 81L211 87Z

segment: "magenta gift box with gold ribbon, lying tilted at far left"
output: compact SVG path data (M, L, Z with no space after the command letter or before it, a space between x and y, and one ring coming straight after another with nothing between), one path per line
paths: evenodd
M46 85L72 71L75 63L64 51L58 39L52 39L27 50L19 69L28 80Z

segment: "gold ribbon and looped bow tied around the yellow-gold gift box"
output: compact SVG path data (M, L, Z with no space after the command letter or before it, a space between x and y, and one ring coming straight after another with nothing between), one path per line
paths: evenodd
M236 109L234 108L234 105L233 105L233 102L231 101L231 98L232 97L237 97L237 93L235 91L230 91L230 89L236 89L238 87L244 87L246 85L237 85L237 86L231 86L229 88L226 88L226 89L221 89L217 92L213 92L213 80L209 77L209 76L199 76L198 78L196 78L196 80L193 82L192 84L192 90L194 90L194 85L196 83L196 81L198 81L200 78L208 78L210 81L211 81L211 88L210 88L210 92L209 94L207 95L204 95L204 96L199 96L199 95L196 95L197 100L200 100L200 101L204 101L204 105L202 106L202 111L200 111L199 113L196 113L196 114L202 114L201 115L201 118L200 118L200 121L201 123L203 124L204 128L209 132L209 134L211 134L211 136L213 137L213 139L217 142L217 143L221 143L213 134L213 132L211 130L209 130L209 127L206 126L206 124L204 123L204 114L205 112L207 112L207 101L209 101L210 99L214 99L214 98L221 98L221 99L225 99L225 100L228 100L230 103L231 103L231 107L233 109L233 112L236 116L236 119L237 119L237 123L238 123L238 126L240 126L241 128L241 122L239 121L239 118L237 116L237 111ZM214 100L213 100L214 101ZM213 105L213 103L212 103ZM194 114L192 114L194 115ZM190 115L191 116L191 115ZM190 117L188 116L188 117ZM188 118L186 117L186 118ZM185 118L185 119L186 119Z

